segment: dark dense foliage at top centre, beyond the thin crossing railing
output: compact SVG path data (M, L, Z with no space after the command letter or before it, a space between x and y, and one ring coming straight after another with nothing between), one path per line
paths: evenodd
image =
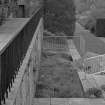
M75 28L73 0L44 0L44 27L53 33L72 36Z

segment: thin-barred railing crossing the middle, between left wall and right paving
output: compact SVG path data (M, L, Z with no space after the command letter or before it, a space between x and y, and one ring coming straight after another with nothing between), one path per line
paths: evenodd
M44 35L43 36L43 49L52 51L69 51L74 49L75 46L72 44L76 41L80 47L80 37L79 36L56 36L56 35Z

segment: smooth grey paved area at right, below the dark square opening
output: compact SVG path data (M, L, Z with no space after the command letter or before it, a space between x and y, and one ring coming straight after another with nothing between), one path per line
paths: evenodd
M85 30L79 23L76 23L75 35L81 35L84 38L86 52L105 54L105 41L99 37L95 37L94 34L90 33L88 30ZM79 50L78 43L75 44L80 55L83 56L82 52Z

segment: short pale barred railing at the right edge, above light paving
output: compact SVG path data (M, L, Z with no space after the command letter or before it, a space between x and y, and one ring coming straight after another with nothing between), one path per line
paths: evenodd
M83 62L84 71L92 74L105 70L105 54L87 58Z

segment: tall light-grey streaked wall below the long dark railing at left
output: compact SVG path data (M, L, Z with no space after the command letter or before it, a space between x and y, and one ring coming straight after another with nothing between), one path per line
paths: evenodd
M40 20L35 31L5 105L32 105L40 67L42 35L43 19Z

